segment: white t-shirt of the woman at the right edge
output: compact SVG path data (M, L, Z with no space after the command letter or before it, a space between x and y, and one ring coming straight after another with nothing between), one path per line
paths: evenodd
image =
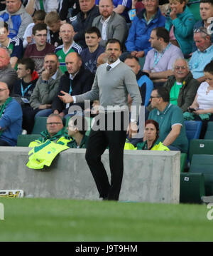
M197 90L197 103L199 104L199 108L213 108L213 90L207 93L208 86L209 84L207 82L203 82Z

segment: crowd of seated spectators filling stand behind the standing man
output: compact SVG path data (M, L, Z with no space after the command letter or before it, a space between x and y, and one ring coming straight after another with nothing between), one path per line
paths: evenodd
M127 138L128 143L187 153L184 121L201 120L204 127L213 121L213 0L200 1L197 21L187 4L6 0L0 5L0 145L16 145L19 134L32 132L38 116L56 120L48 120L47 138L67 133L60 118L75 115L70 106L84 112L84 103L65 103L58 96L90 91L97 68L107 65L107 41L117 39L120 60L136 76L149 120L144 138ZM90 109L94 105L98 102ZM50 126L58 126L55 133L49 133ZM67 145L85 147L84 132L73 126L71 121L68 133L77 142Z

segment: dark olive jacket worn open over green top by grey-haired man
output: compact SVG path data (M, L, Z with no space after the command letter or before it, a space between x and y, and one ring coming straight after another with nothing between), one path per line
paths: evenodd
M175 81L175 76L169 76L168 81L165 82L163 87L167 88L167 90L170 92ZM183 81L183 85L180 88L180 93L178 96L178 107L182 109L182 112L187 111L187 108L192 105L199 86L200 83L193 78L192 73L188 73L185 81Z

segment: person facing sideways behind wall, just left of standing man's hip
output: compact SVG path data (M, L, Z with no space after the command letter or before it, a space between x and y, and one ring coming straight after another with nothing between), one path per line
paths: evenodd
M73 138L67 146L69 148L87 148L87 121L83 116L72 116L67 126L68 135Z

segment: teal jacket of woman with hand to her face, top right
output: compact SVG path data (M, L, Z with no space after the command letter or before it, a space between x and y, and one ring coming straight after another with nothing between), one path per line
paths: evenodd
M183 54L192 52L194 25L195 18L187 6L185 6L182 14L177 14L176 19L172 20L170 16L166 17L165 29L170 31L171 27L174 26L175 39L178 41Z

